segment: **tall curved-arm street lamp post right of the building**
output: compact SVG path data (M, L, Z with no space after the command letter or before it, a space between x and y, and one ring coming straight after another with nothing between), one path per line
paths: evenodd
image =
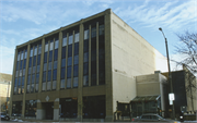
M169 82L171 84L171 94L173 94L173 84L172 84L172 74L171 74L171 66L170 66L170 59L169 59L169 48L167 48L167 39L162 30L162 28L160 27L159 30L162 32L163 37L165 39L165 47L166 47L166 56L167 56L167 66L169 66ZM173 95L174 96L174 95ZM172 100L172 112L173 112L173 119L175 119L175 110L174 110L174 102Z

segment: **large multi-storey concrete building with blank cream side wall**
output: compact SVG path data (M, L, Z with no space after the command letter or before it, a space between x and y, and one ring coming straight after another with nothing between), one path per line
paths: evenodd
M137 96L136 76L160 66L166 58L108 9L16 46L10 114L113 121L117 101Z

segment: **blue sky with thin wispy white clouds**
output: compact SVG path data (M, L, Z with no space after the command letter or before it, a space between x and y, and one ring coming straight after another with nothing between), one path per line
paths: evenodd
M162 27L171 59L176 34L197 32L197 0L0 0L0 73L12 74L18 45L109 8L166 57Z

